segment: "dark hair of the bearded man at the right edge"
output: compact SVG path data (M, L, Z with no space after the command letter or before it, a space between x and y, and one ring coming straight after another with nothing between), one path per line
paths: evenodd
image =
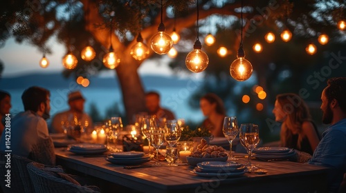
M343 112L346 112L346 77L331 78L327 81L325 96L330 102L333 99L338 101L338 105Z

